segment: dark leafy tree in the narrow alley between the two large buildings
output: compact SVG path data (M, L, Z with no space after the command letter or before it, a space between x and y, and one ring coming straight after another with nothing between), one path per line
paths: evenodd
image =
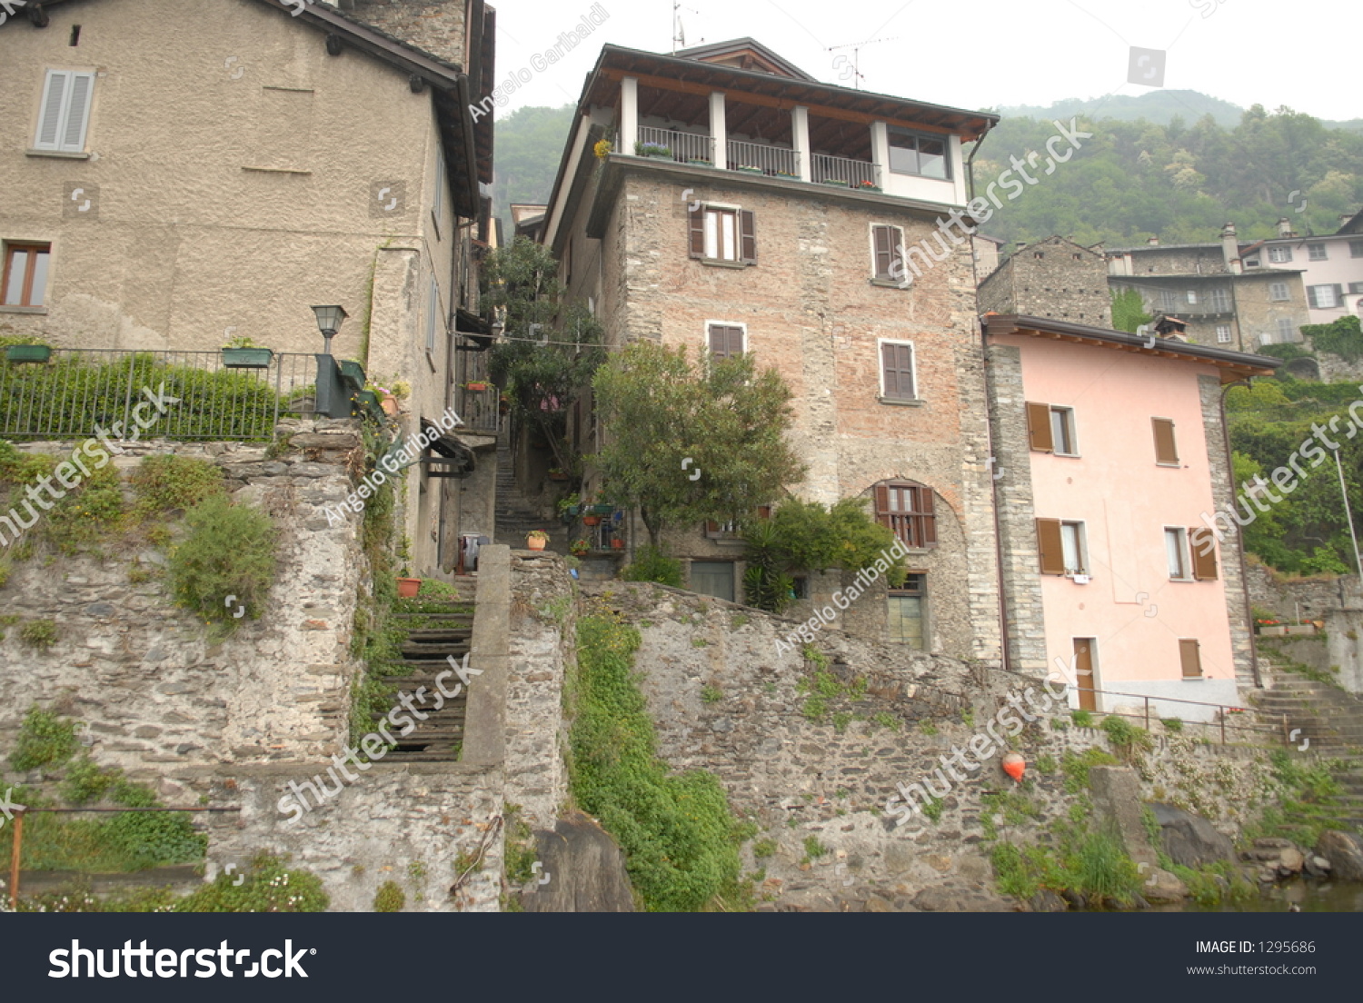
M540 429L568 466L563 446L568 407L605 360L601 324L582 304L563 300L559 263L526 237L497 248L484 267L484 305L503 311L504 339L492 346L488 369L506 390L511 416Z

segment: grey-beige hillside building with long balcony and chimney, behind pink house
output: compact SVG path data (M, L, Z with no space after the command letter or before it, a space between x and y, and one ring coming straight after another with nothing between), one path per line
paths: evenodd
M1107 251L1114 292L1135 289L1145 311L1186 323L1187 338L1253 352L1302 341L1308 323L1300 268L1262 267L1266 255L1242 244L1227 223L1219 244L1160 244Z

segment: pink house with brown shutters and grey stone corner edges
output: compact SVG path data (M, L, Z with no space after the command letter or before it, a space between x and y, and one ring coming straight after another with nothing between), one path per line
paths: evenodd
M1010 666L1077 672L1075 707L1238 706L1257 684L1242 551L1205 526L1232 499L1223 391L1277 360L1030 316L984 330Z

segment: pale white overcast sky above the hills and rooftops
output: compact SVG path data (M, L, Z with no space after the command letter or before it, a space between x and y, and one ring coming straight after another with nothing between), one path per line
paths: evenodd
M497 80L529 70L596 0L492 0ZM534 72L497 110L575 102L601 45L672 50L672 0L600 0L609 15L567 59ZM750 35L807 74L958 108L1048 105L1144 94L1131 48L1164 53L1163 86L1242 108L1288 105L1321 119L1363 116L1356 0L687 0L687 45ZM829 50L831 46L845 46ZM840 59L841 57L841 59ZM1159 70L1159 56L1138 75ZM1150 78L1144 78L1150 79Z

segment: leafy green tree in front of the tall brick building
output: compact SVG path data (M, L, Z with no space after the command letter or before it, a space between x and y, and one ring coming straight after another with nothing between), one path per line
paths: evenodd
M616 500L639 507L654 546L672 526L743 518L804 476L786 442L791 388L750 354L692 365L686 348L637 341L593 388L597 465Z

